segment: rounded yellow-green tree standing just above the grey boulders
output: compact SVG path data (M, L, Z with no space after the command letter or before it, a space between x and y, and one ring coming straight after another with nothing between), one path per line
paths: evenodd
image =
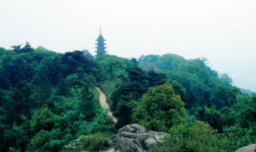
M170 83L151 87L139 99L134 109L133 120L150 130L167 131L171 126L182 122L186 116L185 103L174 94Z

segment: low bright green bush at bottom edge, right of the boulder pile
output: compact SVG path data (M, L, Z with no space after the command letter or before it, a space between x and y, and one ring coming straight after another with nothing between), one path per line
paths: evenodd
M166 137L166 141L162 145L159 144L150 150L150 152L230 151L227 148L228 142L226 137L217 134L216 130L211 129L204 122L182 123L178 126L171 127L169 133L170 135Z

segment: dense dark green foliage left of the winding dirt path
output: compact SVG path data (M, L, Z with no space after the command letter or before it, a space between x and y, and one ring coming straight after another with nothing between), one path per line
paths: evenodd
M0 151L59 151L81 135L114 131L97 102L94 86L105 76L94 57L12 47L0 49Z

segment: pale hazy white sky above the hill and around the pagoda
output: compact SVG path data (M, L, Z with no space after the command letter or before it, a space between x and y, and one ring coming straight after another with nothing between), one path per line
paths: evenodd
M234 85L256 92L255 0L0 0L0 46L30 42L94 54L99 28L108 54L207 58Z

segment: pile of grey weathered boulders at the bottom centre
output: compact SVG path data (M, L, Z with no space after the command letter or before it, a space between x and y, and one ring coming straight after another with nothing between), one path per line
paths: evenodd
M147 131L144 126L132 124L118 130L114 151L116 152L142 152L162 142L166 133Z

